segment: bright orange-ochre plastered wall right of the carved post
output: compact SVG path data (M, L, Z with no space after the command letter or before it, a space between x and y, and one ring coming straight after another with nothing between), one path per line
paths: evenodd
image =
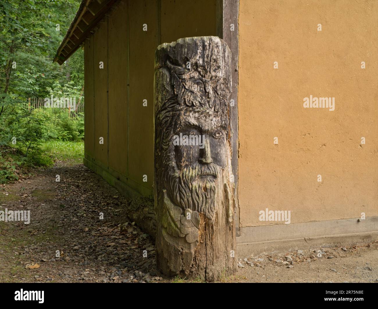
M259 221L265 208L291 223L378 215L377 29L377 1L240 1L241 227L283 224ZM310 95L335 111L304 108Z

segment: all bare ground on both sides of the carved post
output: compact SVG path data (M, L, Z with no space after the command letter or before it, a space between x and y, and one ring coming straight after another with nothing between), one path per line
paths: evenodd
M0 282L183 282L156 271L153 241L127 218L127 201L82 164L58 162L0 189L0 210L31 216L0 221ZM320 249L240 260L222 281L378 283L378 242L322 248L318 257Z

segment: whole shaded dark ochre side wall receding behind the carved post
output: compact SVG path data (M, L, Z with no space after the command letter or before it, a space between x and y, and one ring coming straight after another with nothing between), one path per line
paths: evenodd
M152 197L155 50L181 37L216 35L215 3L124 0L86 40L85 160L110 183L113 177Z

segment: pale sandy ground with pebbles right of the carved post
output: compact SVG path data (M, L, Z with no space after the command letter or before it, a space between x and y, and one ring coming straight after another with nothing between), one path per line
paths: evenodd
M237 282L378 283L378 241L362 246L264 255L239 263L244 267L234 279Z

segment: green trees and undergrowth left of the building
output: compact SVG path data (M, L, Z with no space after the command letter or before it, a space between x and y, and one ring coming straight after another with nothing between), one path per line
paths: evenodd
M67 109L25 105L28 98L51 95L84 102L82 49L62 66L53 63L80 2L0 1L0 182L52 164L45 141L84 138L83 115L70 118Z

